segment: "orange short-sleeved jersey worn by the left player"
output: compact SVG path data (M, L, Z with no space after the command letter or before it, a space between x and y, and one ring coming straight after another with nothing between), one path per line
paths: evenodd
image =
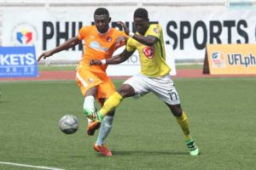
M108 32L101 34L96 26L83 26L79 30L79 40L84 40L84 53L79 67L87 67L89 71L106 71L108 65L90 65L91 59L109 59L113 52L125 45L125 41L116 41L118 37L128 37L124 31L109 28Z

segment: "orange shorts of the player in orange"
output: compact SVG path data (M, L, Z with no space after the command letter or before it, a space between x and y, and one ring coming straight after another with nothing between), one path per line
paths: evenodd
M83 95L89 88L96 86L96 99L108 98L115 92L113 82L103 71L92 72L88 68L80 67L76 72L76 82Z

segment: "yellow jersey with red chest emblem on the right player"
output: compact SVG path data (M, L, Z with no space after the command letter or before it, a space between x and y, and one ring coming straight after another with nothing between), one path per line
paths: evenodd
M137 34L139 33L137 32ZM166 76L171 68L166 64L166 50L161 26L158 24L150 25L144 36L149 35L157 37L158 42L149 47L130 37L126 44L126 50L132 52L137 49L143 75L147 77Z

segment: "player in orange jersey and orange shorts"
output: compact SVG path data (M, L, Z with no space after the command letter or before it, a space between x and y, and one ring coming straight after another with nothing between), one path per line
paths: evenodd
M83 58L80 61L76 71L76 82L84 95L84 114L93 114L96 112L95 99L101 105L105 100L114 93L113 82L106 74L108 65L90 65L91 59L109 59L112 57L113 52L125 45L126 36L124 31L118 31L109 27L108 9L97 8L94 13L95 26L83 26L79 30L77 37L72 37L67 42L62 43L60 46L44 52L38 57L46 59L47 57L58 53L67 48L72 48L78 45L81 41L84 42ZM88 119L87 133L93 135L95 130L100 127L100 132L94 144L94 149L100 151L104 156L112 156L112 153L103 143L110 133L113 123L114 111L110 111L102 122L102 126L98 122L92 122Z

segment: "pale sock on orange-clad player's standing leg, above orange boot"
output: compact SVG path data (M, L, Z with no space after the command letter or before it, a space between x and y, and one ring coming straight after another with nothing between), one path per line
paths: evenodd
M102 125L100 127L100 131L98 134L98 138L96 141L97 145L104 144L104 139L108 137L110 130L112 128L113 116L105 116L102 121Z

